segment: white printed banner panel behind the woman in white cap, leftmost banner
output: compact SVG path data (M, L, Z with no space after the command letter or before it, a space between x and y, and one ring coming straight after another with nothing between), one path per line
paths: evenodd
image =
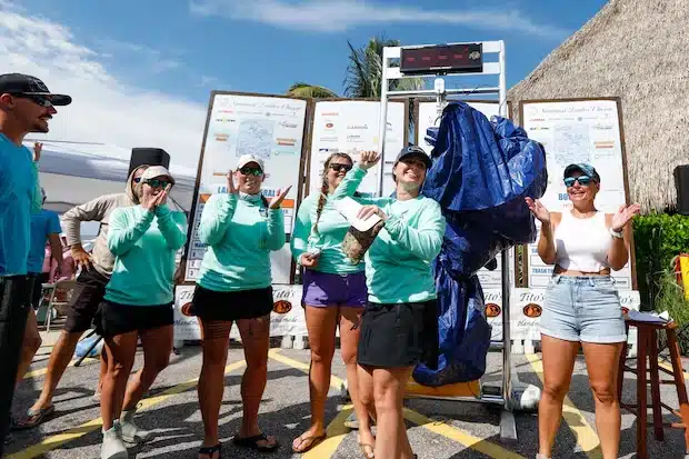
M292 186L282 202L284 231L292 232L299 184L307 102L268 96L216 94L208 119L200 188L192 216L186 280L196 280L206 246L198 238L203 204L213 193L227 192L228 171L242 154L254 154L266 164L262 189L269 200ZM289 245L271 252L273 283L289 283Z

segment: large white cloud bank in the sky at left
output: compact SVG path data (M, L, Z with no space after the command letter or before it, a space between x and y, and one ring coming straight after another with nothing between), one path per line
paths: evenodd
M2 72L33 74L51 91L73 98L58 108L48 139L159 147L173 164L196 169L206 106L126 84L106 68L107 61L79 44L70 29L0 0Z

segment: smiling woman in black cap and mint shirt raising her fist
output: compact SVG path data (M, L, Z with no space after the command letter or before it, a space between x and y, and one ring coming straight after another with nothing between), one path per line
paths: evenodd
M378 162L361 154L333 198L352 196ZM418 147L400 151L392 169L395 198L359 198L359 217L377 214L385 227L366 253L369 301L361 319L358 349L359 397L376 412L373 439L369 418L359 416L362 443L376 445L377 458L412 459L402 417L402 399L413 367L438 365L438 316L431 263L440 252L446 222L440 206L420 194L430 158ZM376 397L373 397L376 393Z

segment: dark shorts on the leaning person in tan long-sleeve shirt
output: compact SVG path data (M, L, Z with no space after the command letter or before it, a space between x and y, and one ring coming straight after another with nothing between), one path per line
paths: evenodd
M101 275L94 268L81 271L67 310L64 331L74 333L91 328L98 307L106 296L106 286L109 280L109 277Z

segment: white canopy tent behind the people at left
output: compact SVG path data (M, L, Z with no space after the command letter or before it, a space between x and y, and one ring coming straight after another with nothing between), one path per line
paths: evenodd
M103 143L43 141L40 181L48 199L44 208L63 213L102 194L124 190L131 150ZM24 144L32 150L33 140ZM193 199L196 171L170 161L176 186L170 204L189 212Z

